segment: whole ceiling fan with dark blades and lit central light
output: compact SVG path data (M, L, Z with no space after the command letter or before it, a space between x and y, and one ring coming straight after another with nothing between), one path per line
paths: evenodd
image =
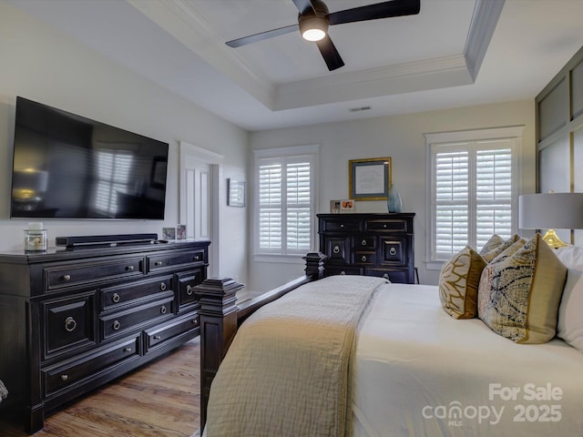
M328 36L329 25L343 25L357 21L378 20L393 16L416 15L421 8L421 0L392 0L389 2L364 5L329 13L322 0L292 0L298 11L298 24L287 25L251 36L233 39L226 44L230 47L246 46L273 36L289 34L300 30L302 37L316 43L330 71L344 65L343 58Z

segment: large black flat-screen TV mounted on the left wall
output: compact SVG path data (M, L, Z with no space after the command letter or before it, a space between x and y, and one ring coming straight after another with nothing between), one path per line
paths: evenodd
M169 145L16 97L12 218L164 219Z

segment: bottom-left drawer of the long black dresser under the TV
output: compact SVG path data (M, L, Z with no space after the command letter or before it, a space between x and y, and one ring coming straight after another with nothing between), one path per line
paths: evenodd
M88 354L76 361L68 362L42 371L45 380L45 395L51 395L81 381L97 371L122 361L139 357L139 337L110 346L102 351Z

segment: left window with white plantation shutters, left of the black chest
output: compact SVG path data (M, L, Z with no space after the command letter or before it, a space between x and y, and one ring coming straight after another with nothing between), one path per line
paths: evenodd
M305 255L314 246L317 146L255 151L255 253Z

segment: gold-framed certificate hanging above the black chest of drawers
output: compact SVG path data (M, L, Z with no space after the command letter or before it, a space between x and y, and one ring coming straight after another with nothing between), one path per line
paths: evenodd
M391 187L391 158L348 161L348 193L354 200L386 200Z

